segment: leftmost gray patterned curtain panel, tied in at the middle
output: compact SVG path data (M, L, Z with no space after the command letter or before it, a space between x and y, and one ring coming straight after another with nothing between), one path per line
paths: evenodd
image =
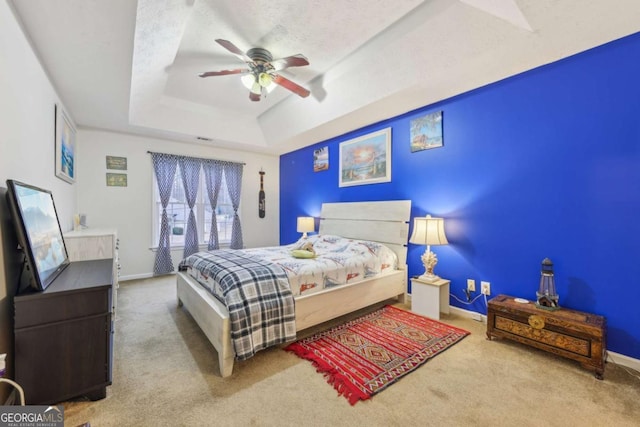
M173 261L171 260L171 243L169 241L169 218L167 217L167 206L171 197L173 179L176 175L178 159L170 154L151 153L153 170L158 182L158 192L160 193L160 203L162 204L162 223L160 225L160 240L158 251L156 252L156 262L153 266L154 274L167 274L173 272Z

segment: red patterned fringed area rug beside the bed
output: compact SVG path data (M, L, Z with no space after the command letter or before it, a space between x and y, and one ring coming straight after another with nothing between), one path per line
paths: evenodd
M310 360L349 403L369 399L469 332L387 305L285 350Z

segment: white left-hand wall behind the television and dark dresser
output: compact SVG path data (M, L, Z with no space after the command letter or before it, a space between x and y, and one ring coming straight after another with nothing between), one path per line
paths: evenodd
M16 179L51 190L63 230L69 230L77 210L77 186L55 177L56 103L60 99L13 12L6 1L0 1L0 187L7 179ZM13 234L13 224L5 210L0 219L0 240L4 243ZM0 244L0 353L8 353L10 373L11 306L19 269L14 249ZM0 402L6 393L7 389L0 387Z

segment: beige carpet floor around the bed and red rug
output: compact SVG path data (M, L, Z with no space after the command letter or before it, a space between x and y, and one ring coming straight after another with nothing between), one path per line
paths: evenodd
M471 335L355 406L281 347L236 362L223 379L175 295L172 276L121 284L113 385L100 401L66 402L65 425L640 425L640 380L627 368L608 363L599 381L576 362L488 341L485 324L453 314L442 321Z

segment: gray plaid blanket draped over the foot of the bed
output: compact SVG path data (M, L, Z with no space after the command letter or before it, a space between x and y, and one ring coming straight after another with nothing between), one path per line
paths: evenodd
M236 359L245 360L259 350L296 339L293 295L280 266L242 250L220 249L185 258L180 269L186 267L220 286Z

